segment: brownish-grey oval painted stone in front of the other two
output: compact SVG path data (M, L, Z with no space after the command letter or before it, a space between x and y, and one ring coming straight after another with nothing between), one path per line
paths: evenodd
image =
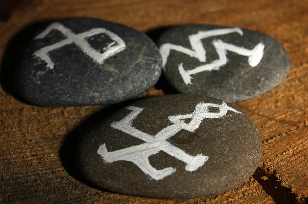
M180 199L240 185L257 169L262 141L238 109L182 94L130 104L98 123L77 149L80 172L95 186Z

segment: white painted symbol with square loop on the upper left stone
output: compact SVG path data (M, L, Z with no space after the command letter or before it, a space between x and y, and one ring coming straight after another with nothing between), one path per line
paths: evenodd
M93 28L87 32L75 34L70 29L64 27L60 23L51 24L41 34L37 35L34 40L44 38L52 30L59 30L63 35L67 37L67 39L61 40L60 42L46 46L34 52L34 55L44 60L47 63L47 67L49 67L50 69L53 69L54 63L50 59L48 52L71 43L75 43L85 54L90 56L94 60L94 62L97 62L99 64L104 63L104 60L125 49L124 41L118 35L105 28ZM113 40L111 44L109 44L106 48L103 48L104 53L102 54L92 48L85 39L87 37L91 37L100 33L105 33ZM117 43L117 45L113 46L115 43Z

